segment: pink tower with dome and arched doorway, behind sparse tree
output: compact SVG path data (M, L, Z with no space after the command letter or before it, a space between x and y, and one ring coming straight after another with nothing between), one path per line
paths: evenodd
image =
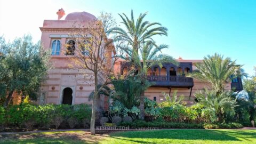
M75 39L69 34L73 29L74 22L88 25L90 21L96 20L96 17L87 12L73 12L61 20L65 11L60 9L57 14L57 20L44 20L43 27L40 27L41 43L45 50L51 51L54 68L49 70L48 78L41 87L39 104L91 104L88 99L94 89L93 83L89 78L84 78L79 70L69 67L73 61L69 59L70 55L68 54L75 54L74 50L76 49ZM71 53L66 53L67 48ZM90 73L88 74L90 75Z

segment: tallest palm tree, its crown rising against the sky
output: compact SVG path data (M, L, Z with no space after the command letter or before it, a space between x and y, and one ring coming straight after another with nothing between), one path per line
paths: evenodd
M127 42L127 47L124 47L124 49L126 49L126 51L130 51L130 61L131 61L131 65L135 66L138 65L138 68L141 70L140 74L142 74L142 84L145 84L146 81L146 75L147 75L147 68L149 64L147 62L143 62L146 65L141 65L140 63L140 59L138 58L142 58L145 57L143 55L143 53L141 53L142 57L138 57L139 55L139 50L142 49L143 46L148 45L147 43L150 43L151 47L153 47L153 45L156 47L156 49L161 48L161 47L167 47L166 45L162 45L162 46L157 46L153 36L155 35L164 35L167 36L167 28L162 27L161 23L158 22L153 22L150 23L149 21L143 21L143 19L146 17L147 12L146 13L140 13L139 18L137 19L137 21L134 21L134 17L133 17L133 11L131 11L131 19L129 19L127 17L126 14L119 14L119 16L121 17L121 19L123 20L121 23L123 23L123 25L125 26L125 29L120 28L120 27L115 27L111 30L112 33L114 34L118 34L117 38L122 38L125 42ZM161 50L158 50L161 51ZM162 59L167 60L169 59L169 57L167 57L166 55L156 55L156 53L158 51L154 51L155 53L150 53L150 56L148 55L149 60L150 59ZM137 59L137 62L136 62ZM171 58L171 60L173 60ZM173 60L174 61L174 60ZM154 62L155 64L157 64L156 62ZM159 63L158 63L159 64ZM147 67L147 68L146 68ZM146 74L146 75L145 75ZM144 93L144 92L143 92ZM140 119L144 119L144 97L142 95L142 97L140 98L140 110L141 110L141 115L140 115Z

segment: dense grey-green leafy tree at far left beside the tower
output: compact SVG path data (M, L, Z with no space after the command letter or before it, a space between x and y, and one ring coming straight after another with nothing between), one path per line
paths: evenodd
M37 92L50 68L50 53L30 35L6 43L0 38L0 99L8 106L14 91L37 98ZM6 96L7 95L7 96Z

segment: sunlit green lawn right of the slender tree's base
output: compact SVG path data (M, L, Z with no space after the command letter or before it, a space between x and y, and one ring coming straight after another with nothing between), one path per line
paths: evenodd
M101 143L256 143L256 130L157 130L111 133Z

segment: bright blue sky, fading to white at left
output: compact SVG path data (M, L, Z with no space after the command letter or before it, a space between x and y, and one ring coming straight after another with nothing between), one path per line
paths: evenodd
M118 13L130 15L133 9L136 18L148 12L146 20L160 22L168 29L167 37L155 37L158 44L169 45L164 53L174 58L203 59L217 52L237 60L250 75L256 66L256 1L249 0L0 0L0 35L13 39L29 33L38 41L38 27L44 19L57 19L55 13L61 7L66 14L86 11L97 16L101 11L110 12L118 23Z

